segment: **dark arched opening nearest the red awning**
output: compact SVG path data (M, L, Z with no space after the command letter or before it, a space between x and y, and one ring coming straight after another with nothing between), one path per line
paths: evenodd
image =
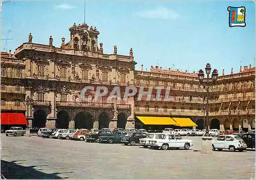
M47 113L44 109L37 109L33 114L32 127L46 127Z

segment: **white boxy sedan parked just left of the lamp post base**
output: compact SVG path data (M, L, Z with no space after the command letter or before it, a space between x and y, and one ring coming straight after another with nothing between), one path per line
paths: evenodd
M163 150L168 148L184 148L188 150L193 146L191 140L184 140L179 134L157 134L156 138L149 141L150 146L158 149L159 147Z

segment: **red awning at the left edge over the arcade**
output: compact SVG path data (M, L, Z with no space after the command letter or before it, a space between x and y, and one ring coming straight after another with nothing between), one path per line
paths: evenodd
M28 122L23 113L1 113L1 125L11 124L27 125Z

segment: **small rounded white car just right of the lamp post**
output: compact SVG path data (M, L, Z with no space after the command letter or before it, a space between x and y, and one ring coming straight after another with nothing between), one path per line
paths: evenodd
M221 135L217 138L217 140L212 141L212 150L218 149L222 151L222 149L229 149L231 152L236 150L243 151L247 148L246 143L242 140L241 137L236 135Z

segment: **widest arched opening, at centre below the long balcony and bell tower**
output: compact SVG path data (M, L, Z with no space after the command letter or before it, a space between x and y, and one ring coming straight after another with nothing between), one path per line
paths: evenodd
M93 128L93 116L87 111L81 111L75 116L75 129Z

